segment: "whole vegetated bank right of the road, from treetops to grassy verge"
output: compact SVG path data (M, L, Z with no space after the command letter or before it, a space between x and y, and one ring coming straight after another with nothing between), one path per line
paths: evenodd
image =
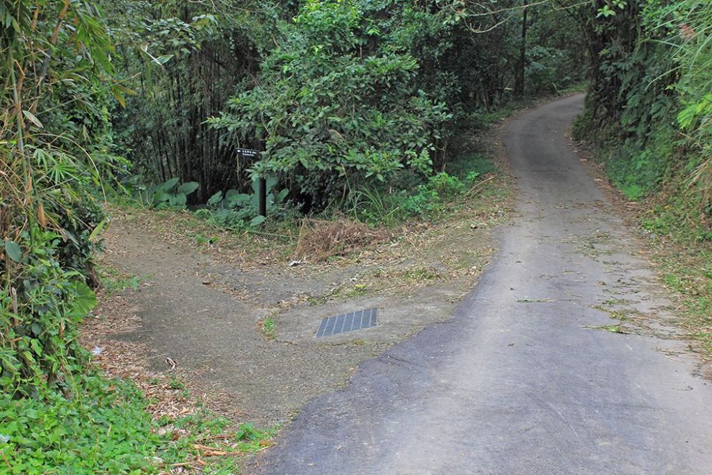
M592 83L575 126L636 202L681 325L712 355L712 49L708 1L618 2L587 25ZM634 26L634 27L632 27Z

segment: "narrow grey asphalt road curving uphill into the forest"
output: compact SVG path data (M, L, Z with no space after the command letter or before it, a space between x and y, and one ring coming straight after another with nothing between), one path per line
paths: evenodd
M508 128L516 216L454 318L308 404L251 470L712 473L712 387L654 325L669 303L565 136L581 105ZM646 325L590 328L617 323L605 306Z

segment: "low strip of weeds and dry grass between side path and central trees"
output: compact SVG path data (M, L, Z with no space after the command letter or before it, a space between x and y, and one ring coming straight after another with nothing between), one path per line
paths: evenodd
M281 194L279 199L268 200L268 218L256 226L247 226L244 220L221 221L219 216L234 213L230 200L249 199L251 206L256 201L254 194L234 193L229 193L229 198L216 195L209 207L193 210L165 204L150 209L144 202L115 195L110 211L126 214L128 219L142 221L160 234L198 249L239 250L246 261L324 261L345 256L391 238L402 226L441 222L486 192L486 185L501 170L491 151L483 149L480 135L510 114L511 109L503 109L475 114L464 122L451 145L451 158L440 172L424 177L404 170L392 182L351 189L342 202L319 214L299 214L295 204ZM268 189L274 185L268 182Z

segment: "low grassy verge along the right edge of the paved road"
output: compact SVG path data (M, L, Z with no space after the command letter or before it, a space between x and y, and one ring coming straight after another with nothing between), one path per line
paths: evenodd
M646 150L587 142L592 171L609 179L619 209L639 226L676 301L676 324L712 360L712 227L689 169L667 135ZM655 155L656 161L643 159ZM619 163L615 163L619 160ZM641 169L643 160L649 167ZM613 164L613 165L612 165ZM641 183L644 183L643 187ZM632 201L638 200L638 201Z

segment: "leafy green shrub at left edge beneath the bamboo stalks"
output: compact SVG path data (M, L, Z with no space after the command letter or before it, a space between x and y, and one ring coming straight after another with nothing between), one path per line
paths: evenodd
M32 241L25 234L28 252L12 266L14 285L0 293L0 390L10 397L67 390L83 370L78 323L96 299L83 274L56 259L61 241L52 231Z

